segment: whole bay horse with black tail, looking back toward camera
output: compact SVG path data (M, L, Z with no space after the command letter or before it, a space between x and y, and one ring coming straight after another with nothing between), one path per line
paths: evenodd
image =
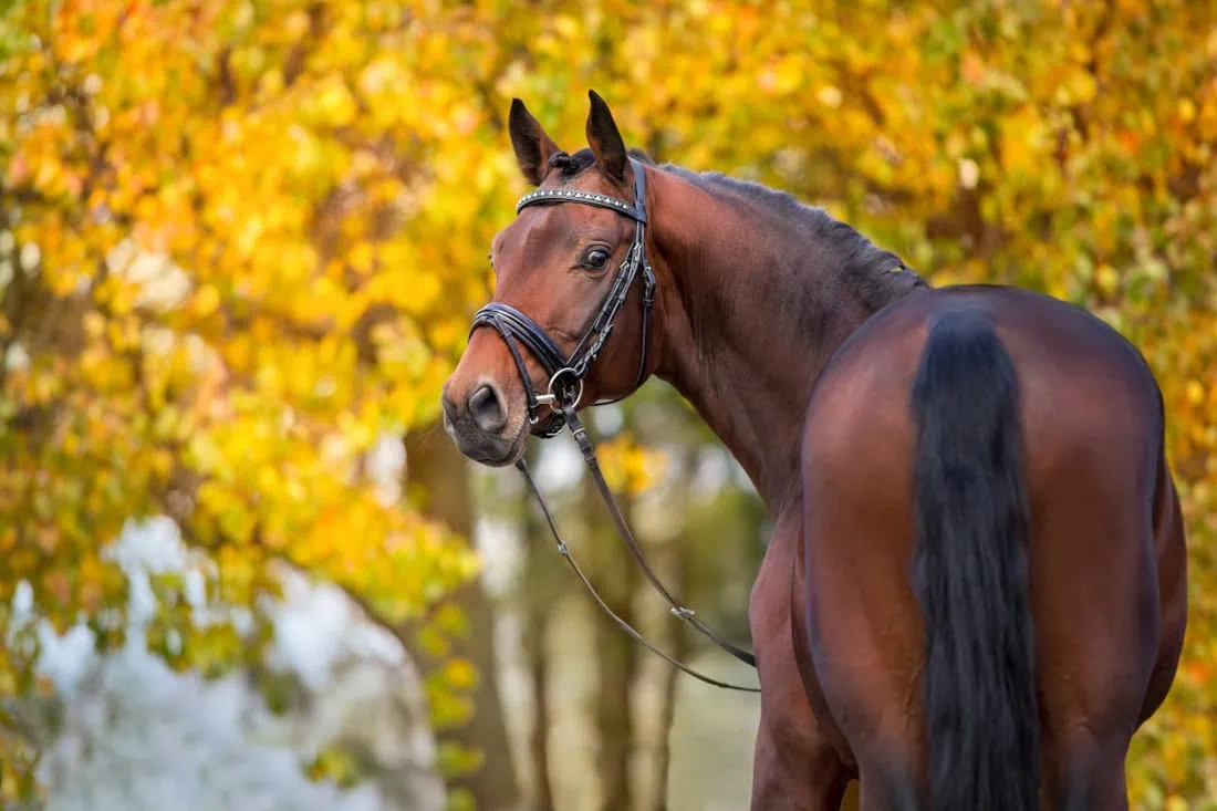
M573 153L512 102L538 189L444 385L461 452L512 464L555 402L651 375L731 451L774 518L750 602L753 810L837 809L856 778L868 810L1127 807L1129 739L1187 623L1140 353L1047 296L926 284L790 195L657 166L590 97ZM566 201L588 205L531 205ZM622 284L639 244L646 284Z

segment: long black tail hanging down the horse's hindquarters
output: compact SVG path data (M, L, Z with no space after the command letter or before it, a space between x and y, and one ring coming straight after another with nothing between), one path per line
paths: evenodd
M913 410L929 807L1030 811L1039 711L1019 381L986 315L931 324Z

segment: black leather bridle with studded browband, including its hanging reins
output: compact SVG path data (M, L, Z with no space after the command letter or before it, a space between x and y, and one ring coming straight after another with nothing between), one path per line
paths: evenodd
M479 326L489 326L494 329L507 345L507 349L511 352L516 369L520 371L520 380L523 382L525 392L528 397L528 423L531 425L535 426L540 421L543 406L548 406L553 414L559 416L555 426L535 430L538 436L556 436L563 426L571 431L571 436L574 437L574 441L578 443L579 451L583 454L583 462L587 464L588 470L591 472L591 477L596 483L596 490L600 492L600 497L604 499L605 505L608 508L608 514L612 516L613 524L617 526L618 535L626 543L630 554L634 556L639 567L643 570L643 574L650 581L651 586L654 586L663 599L667 600L672 614L689 622L689 625L696 628L699 633L730 655L735 656L746 665L756 667L756 656L723 639L700 619L697 619L697 615L691 609L682 605L680 602L663 587L663 583L655 574L655 570L652 570L646 563L643 548L638 544L638 541L634 539L634 533L626 522L626 518L622 515L621 508L617 505L617 500L613 498L612 491L608 488L608 483L605 481L604 474L600 470L600 462L596 459L595 447L591 444L587 429L583 426L583 423L576 413L576 408L583 398L583 381L588 374L588 369L596 359L601 348L604 348L608 336L612 334L613 320L616 319L617 313L621 312L622 306L624 306L626 298L629 296L629 290L639 275L643 278L643 347L640 352L641 357L639 358L638 376L634 381L633 388L630 388L630 391L626 395L613 399L600 401L594 404L604 406L624 399L629 395L634 393L634 391L636 391L646 379L646 357L647 346L650 343L650 321L651 309L655 303L656 281L655 272L651 269L651 263L646 258L646 174L636 161L630 160L630 163L634 169L633 203L628 203L608 195L579 191L576 189L538 189L537 191L525 195L520 198L520 202L516 203L517 214L528 206L573 202L582 203L584 206L607 208L619 214L624 214L634 220L634 239L630 242L629 250L626 252L626 258L617 269L612 286L608 289L608 293L600 304L600 309L596 312L595 318L591 320L591 324L588 326L587 331L584 331L571 354L565 354L549 334L545 332L539 324L537 324L537 321L515 307L501 302L490 302L482 309L477 311L473 315L473 325L470 329L470 332L472 334L472 331ZM545 370L545 374L549 376L549 385L546 386L546 391L544 393L537 393L537 388L532 384L532 377L528 374L527 365L525 364L523 354L520 351L521 343L537 359L537 362ZM628 633L647 650L664 659L667 662L694 678L725 689L747 693L761 692L756 687L731 684L712 678L677 661L649 643L641 633L639 633L626 620L621 619L621 616L618 616L611 608L608 608L608 604L600 597L595 587L591 585L591 581L588 580L583 569L581 569L579 564L574 560L571 548L562 539L562 536L557 530L557 524L554 521L549 505L545 503L540 490L537 487L537 482L533 480L528 464L523 459L520 459L516 463L516 468L523 475L525 481L528 483L528 488L532 491L533 496L537 497L537 503L540 505L542 513L545 515L545 522L549 525L549 530L557 544L557 552L571 565L571 569L574 571L579 581L587 587L595 603L613 622L616 622L626 633Z

